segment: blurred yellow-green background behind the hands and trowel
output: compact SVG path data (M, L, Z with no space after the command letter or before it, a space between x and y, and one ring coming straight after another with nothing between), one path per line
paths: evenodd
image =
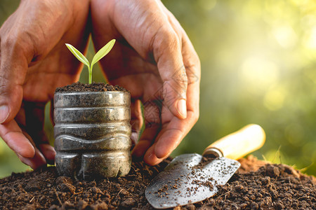
M18 2L0 0L1 25ZM254 155L316 175L316 2L163 3L187 31L202 62L200 118L173 155L202 153L216 139L257 123L267 139ZM93 54L90 45L88 58ZM104 81L100 69L93 80ZM45 129L52 132L48 118ZM0 177L25 169L0 141Z

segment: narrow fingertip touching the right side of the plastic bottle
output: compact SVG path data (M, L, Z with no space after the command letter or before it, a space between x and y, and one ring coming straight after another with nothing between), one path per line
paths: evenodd
M140 107L140 100L138 99L132 100L131 102L131 126L131 140L133 144L137 144L140 135L140 130L143 126L143 116Z

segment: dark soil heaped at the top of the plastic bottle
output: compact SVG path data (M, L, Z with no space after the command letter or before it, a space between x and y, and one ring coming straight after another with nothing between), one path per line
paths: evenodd
M119 85L109 85L105 83L72 83L71 85L66 85L64 87L57 87L55 92L105 92L105 91L124 91L128 92L124 87L119 87Z

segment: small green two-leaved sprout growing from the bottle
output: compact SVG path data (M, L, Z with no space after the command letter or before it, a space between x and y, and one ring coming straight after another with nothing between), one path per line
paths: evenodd
M79 52L79 50L74 48L73 45L70 45L70 44L66 43L66 46L70 50L70 52L72 52L72 54L74 54L74 56L77 57L77 59L79 59L80 62L82 62L83 64L88 66L89 84L91 84L92 83L92 68L93 68L93 65L96 64L100 59L105 57L105 55L107 55L107 53L110 52L110 50L113 48L114 43L115 43L115 39L112 39L103 48L101 48L96 53L96 55L94 55L91 64L88 62L88 59L86 59L86 57L84 57L84 55L82 55L82 53Z

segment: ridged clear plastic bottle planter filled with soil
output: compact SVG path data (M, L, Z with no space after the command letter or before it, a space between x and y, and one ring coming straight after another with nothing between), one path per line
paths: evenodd
M77 179L124 176L131 169L129 92L57 92L55 165Z

